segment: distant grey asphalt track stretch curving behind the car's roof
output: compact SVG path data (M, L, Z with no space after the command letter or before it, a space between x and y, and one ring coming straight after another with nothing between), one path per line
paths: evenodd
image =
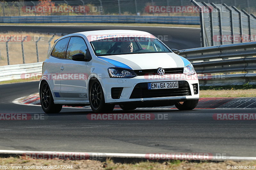
M107 29L139 30L152 33L169 48L188 49L200 46L200 29L148 26L0 26L0 32L61 33L62 35Z

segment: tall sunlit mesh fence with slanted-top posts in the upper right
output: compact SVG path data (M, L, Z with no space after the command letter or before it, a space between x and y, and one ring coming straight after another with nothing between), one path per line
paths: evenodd
M202 47L256 41L255 15L227 4L191 2L201 8Z

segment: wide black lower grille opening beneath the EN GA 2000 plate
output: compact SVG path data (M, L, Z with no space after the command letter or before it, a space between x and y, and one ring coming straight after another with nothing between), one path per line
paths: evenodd
M189 96L191 91L187 81L178 81L179 88L177 89L155 89L148 90L148 83L138 83L130 96L130 99L153 98L153 97L175 97Z

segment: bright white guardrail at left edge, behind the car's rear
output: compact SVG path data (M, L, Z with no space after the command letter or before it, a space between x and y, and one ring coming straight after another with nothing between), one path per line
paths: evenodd
M43 62L0 66L0 81L22 79L21 75L25 73L42 73L42 64Z

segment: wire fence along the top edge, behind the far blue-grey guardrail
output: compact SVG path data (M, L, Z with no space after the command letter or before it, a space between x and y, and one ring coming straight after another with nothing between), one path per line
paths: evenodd
M246 9L255 13L255 0L207 0L207 3L227 4L239 9ZM63 12L26 12L25 7L38 6L39 1L0 1L0 16L26 16L26 15L67 15ZM44 4L45 5L45 4ZM68 15L197 15L196 13L148 13L147 6L189 6L189 0L52 0L48 6L87 6L86 12L68 12Z

